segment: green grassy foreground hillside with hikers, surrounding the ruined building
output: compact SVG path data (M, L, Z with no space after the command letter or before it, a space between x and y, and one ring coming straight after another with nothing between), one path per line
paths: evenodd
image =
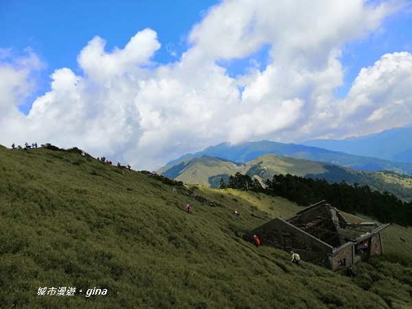
M0 308L412 307L412 238L400 227L350 279L242 240L300 209L281 198L168 185L43 148L0 146L0 173ZM76 293L37 295L52 287ZM93 288L107 294L87 297Z

